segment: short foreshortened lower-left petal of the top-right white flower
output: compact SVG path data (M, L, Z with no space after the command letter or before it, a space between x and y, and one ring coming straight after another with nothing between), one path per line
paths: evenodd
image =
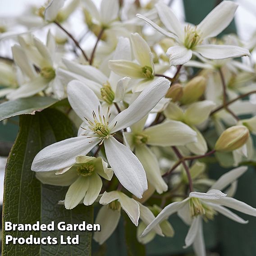
M169 57L170 66L183 65L192 58L192 50L184 46L171 46L166 55Z

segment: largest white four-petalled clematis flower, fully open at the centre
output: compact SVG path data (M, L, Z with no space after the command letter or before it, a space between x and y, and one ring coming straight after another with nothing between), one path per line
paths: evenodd
M86 119L86 131L78 137L47 146L32 163L34 171L64 169L73 165L78 155L86 155L97 144L104 142L107 160L120 183L141 198L147 189L146 174L142 164L128 147L118 142L114 133L142 119L160 101L169 88L165 78L157 79L135 101L110 122L110 114L101 115L101 104L95 93L79 81L68 85L68 99L81 119ZM137 110L140 110L139 112ZM81 134L81 131L80 131Z

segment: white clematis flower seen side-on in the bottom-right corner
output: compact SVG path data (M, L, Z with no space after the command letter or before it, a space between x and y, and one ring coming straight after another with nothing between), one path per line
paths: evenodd
M238 210L242 213L256 216L256 209L242 201L238 201L227 196L220 190L235 183L236 180L246 172L247 167L241 166L223 174L206 193L191 192L189 197L180 202L174 202L166 206L159 215L147 226L142 233L145 236L164 219L178 212L183 221L190 225L185 238L185 247L193 244L197 256L206 256L206 249L202 231L202 220L213 219L214 215L219 212L224 216L241 224L247 224L247 221L228 210L226 207Z

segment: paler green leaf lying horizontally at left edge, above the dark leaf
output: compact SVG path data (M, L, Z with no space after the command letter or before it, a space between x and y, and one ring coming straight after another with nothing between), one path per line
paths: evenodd
M50 97L30 97L0 104L0 121L20 114L35 114L53 105L57 100Z

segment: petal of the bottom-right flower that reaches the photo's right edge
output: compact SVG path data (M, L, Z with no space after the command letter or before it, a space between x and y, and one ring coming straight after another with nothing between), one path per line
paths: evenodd
M249 206L246 203L232 197L220 198L216 200L215 203L229 207L234 210L241 211L242 213L245 213L251 216L256 216L256 208L253 208L252 206Z

